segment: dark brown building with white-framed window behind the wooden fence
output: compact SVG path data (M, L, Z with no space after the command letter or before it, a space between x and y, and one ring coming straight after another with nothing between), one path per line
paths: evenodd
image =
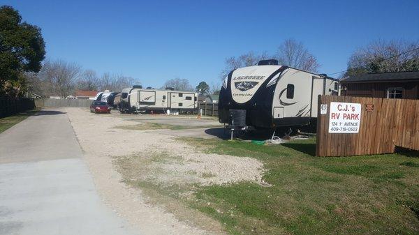
M367 73L340 83L341 96L419 99L419 71Z

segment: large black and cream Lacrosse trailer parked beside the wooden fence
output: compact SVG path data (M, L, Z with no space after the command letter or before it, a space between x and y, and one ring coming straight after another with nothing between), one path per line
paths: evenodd
M315 123L318 95L337 95L338 81L326 75L260 61L237 68L223 82L219 121L244 128Z

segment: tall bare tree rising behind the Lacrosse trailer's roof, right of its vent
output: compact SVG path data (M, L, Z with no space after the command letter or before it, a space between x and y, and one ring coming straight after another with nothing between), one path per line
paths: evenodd
M301 42L294 39L287 39L278 47L277 55L275 56L279 64L284 66L291 66L309 72L318 72L320 65L316 57L309 53L307 47Z

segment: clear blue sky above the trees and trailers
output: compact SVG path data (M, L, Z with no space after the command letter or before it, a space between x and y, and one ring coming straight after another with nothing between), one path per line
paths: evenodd
M219 82L224 61L302 41L321 73L372 40L419 40L419 1L0 1L41 27L47 58L145 86Z

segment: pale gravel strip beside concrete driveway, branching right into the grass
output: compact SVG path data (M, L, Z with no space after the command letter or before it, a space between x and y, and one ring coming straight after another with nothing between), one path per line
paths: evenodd
M138 125L136 121L117 116L91 114L87 109L78 108L68 108L66 112L98 192L107 204L144 234L220 234L223 231L218 222L205 215L198 216L185 209L175 217L168 213L167 207L149 204L153 199L129 187L138 179L169 186L262 182L263 165L253 158L200 153L168 135L115 128ZM138 172L131 175L133 181L128 178L127 184L122 183L127 178L123 179L117 172L112 163L115 159L138 167ZM189 221L191 217L196 222ZM194 226L198 224L199 227Z

